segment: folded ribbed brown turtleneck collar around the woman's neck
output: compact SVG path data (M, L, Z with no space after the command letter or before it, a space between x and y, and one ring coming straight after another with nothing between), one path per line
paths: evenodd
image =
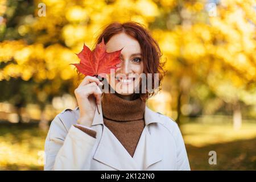
M113 121L143 119L145 107L146 103L141 98L127 101L115 93L104 93L102 96L102 114Z

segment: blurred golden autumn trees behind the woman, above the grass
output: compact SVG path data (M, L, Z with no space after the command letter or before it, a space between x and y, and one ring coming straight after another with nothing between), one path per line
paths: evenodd
M210 2L217 5L213 15ZM38 16L39 3L46 16ZM255 6L253 0L0 0L0 100L44 110L54 96L73 94L77 74L69 64L82 44L93 47L108 23L132 20L149 28L167 59L163 89L176 121L181 114L227 114L232 106L239 127L241 106L253 117L256 110Z

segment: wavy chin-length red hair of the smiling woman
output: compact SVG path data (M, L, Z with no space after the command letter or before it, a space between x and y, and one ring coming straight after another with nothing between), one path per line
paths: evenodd
M113 35L121 32L125 32L125 34L133 37L139 42L142 50L143 73L146 75L147 73L152 74L152 89L154 89L154 92L149 93L146 90L146 93L140 94L141 99L145 101L160 90L160 88L154 88L154 74L159 73L158 81L160 86L165 74L163 69L165 62L163 63L160 61L162 52L160 51L158 43L150 35L150 32L148 32L142 24L136 22L114 22L108 24L106 27L103 27L102 32L98 35L95 46L101 43L102 38L104 38L106 44Z

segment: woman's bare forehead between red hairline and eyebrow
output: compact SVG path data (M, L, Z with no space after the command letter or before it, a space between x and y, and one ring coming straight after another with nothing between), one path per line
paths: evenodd
M113 52L122 49L122 55L130 55L132 53L141 53L141 46L139 42L131 36L120 33L112 36L106 44L106 51Z

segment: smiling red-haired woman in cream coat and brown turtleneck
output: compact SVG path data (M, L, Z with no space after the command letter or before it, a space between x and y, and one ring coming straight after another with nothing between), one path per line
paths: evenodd
M103 93L96 77L82 80L75 90L78 107L64 110L51 123L44 169L190 170L177 124L146 106L154 92L135 92L142 88L135 75L158 73L162 81L158 44L134 22L109 24L97 44L102 38L107 52L122 49L115 79L109 74L105 80L114 93Z

